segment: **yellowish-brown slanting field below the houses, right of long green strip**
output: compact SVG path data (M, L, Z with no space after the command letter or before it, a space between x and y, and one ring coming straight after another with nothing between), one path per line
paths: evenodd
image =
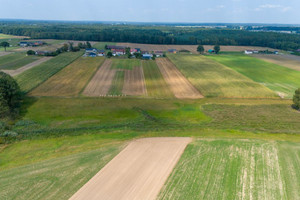
M97 69L103 57L80 57L29 93L31 96L78 96Z

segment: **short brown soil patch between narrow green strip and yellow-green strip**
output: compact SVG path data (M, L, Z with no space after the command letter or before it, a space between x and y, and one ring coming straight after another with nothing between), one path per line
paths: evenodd
M132 96L147 95L142 67L134 67L132 70L125 70L122 93Z

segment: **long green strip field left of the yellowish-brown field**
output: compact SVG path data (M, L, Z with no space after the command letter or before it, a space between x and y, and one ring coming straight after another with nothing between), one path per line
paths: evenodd
M63 53L55 58L44 62L30 70L16 76L20 88L24 92L29 92L39 86L48 78L69 65L75 59L82 55L82 52Z

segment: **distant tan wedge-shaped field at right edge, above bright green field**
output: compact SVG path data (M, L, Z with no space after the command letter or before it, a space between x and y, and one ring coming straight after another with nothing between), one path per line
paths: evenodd
M256 58L262 59L267 62L271 62L277 65L288 67L300 71L300 56L294 55L265 55L265 54L254 54Z

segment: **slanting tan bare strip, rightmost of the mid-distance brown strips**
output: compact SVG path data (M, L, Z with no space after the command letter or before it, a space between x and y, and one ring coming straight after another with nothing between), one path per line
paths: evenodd
M171 91L178 99L203 98L200 92L183 76L167 58L156 59L156 63Z

